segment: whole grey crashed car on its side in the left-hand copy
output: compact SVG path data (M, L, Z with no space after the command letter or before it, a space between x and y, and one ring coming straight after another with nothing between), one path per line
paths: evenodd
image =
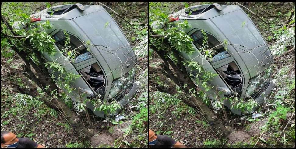
M65 91L77 112L83 112L79 103L86 98L116 100L122 107L129 102L137 90L137 84L134 83L136 55L122 30L102 6L58 5L31 15L31 20L34 23L49 21L53 26L45 32L55 39L57 53L54 56L43 53L44 58L61 64L68 73L81 75L71 84L76 91ZM26 28L19 22L13 27ZM74 61L65 57L67 51L63 51L66 42L64 31L69 35L70 49L76 49L78 53ZM89 45L86 46L86 42ZM59 73L51 69L49 71L56 76ZM79 99L82 93L86 93L86 96ZM86 106L99 117L110 115L94 110L94 105L90 102ZM115 114L121 110L119 108Z

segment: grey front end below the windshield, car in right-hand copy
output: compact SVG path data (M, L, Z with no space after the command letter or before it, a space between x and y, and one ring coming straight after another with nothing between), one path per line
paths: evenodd
M270 94L273 87L274 87L274 83L273 83L273 81L270 81L268 87L266 88L266 90L264 92L262 92L261 95L258 98L254 99L255 101L258 102L259 105L255 106L252 109L251 113L254 113L255 110L257 110L260 107L260 105L265 101L266 97ZM231 112L234 113L234 114L237 114L237 115L246 115L247 114L247 113L242 113L241 110L231 108L231 105L230 105L230 103L228 101L224 102L224 105L227 106L231 110Z

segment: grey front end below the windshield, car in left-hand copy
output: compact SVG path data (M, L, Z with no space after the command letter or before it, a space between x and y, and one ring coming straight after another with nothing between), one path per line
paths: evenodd
M114 115L118 114L120 111L122 111L122 109L124 109L124 107L126 106L126 104L129 103L130 98L132 98L132 95L137 91L137 89L137 84L133 83L131 90L127 94L125 94L121 100L118 101L118 103L122 105L122 108L117 109ZM87 103L87 107L93 111L94 107L91 103ZM112 114L105 115L104 111L93 111L93 113L101 118L105 118L105 116L112 116Z

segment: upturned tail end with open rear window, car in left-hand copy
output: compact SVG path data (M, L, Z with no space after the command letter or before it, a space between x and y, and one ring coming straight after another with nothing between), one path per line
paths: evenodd
M80 9L82 7L83 9ZM54 12L51 14L51 9ZM77 6L77 4L67 4L67 5L57 5L51 8L44 9L36 14L31 15L30 17L38 18L41 17L41 20L70 20L73 18L77 18L79 16L83 16L92 12L97 12L104 10L104 8L100 5L81 5Z

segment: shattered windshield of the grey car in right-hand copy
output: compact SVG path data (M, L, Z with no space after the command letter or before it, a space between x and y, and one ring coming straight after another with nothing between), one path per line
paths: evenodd
M270 81L270 75L272 71L272 65L266 68L261 74L255 78L249 80L249 85L246 91L246 97L255 96L255 94L262 93L268 87Z

